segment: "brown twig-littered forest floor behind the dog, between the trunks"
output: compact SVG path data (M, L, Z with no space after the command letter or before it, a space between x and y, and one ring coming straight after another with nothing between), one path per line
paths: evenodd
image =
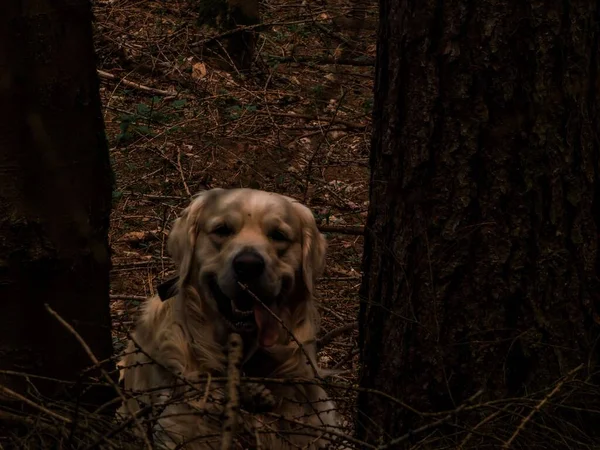
M222 31L200 24L192 2L94 2L116 175L114 346L123 350L140 302L174 274L165 241L190 197L253 187L304 202L323 227L321 333L348 327L320 363L352 385L358 348L349 324L357 320L367 214L377 2L266 0L261 8L255 60L241 74L215 51Z

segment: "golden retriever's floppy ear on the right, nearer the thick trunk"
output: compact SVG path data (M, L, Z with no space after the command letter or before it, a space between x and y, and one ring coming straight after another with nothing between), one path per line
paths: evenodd
M290 201L302 223L302 277L306 289L312 294L315 282L325 268L327 241L317 228L312 211L296 200Z

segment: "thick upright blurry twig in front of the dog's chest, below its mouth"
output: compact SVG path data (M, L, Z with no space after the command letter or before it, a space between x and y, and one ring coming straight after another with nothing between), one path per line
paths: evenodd
M229 361L227 365L227 403L221 434L221 450L233 447L233 435L237 428L240 409L240 366L244 344L237 333L229 335Z

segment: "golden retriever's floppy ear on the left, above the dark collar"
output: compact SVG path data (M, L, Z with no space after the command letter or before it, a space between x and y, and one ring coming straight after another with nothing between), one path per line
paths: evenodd
M199 232L198 218L208 198L217 190L221 189L200 192L173 223L167 241L167 250L179 270L180 282L185 282L190 274Z

